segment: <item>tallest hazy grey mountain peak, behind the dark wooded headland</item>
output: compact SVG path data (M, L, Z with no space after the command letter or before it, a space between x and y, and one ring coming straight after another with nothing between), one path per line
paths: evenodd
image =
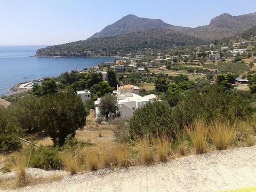
M165 23L161 19L140 18L129 14L113 24L103 28L99 33L95 33L90 38L124 35L147 29L171 29L175 31L185 31L190 28L173 26Z

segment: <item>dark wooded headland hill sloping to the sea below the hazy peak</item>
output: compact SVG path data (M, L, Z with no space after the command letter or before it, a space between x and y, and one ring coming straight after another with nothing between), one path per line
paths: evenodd
M124 56L127 53L143 51L145 48L168 50L173 46L202 43L204 41L200 38L170 29L149 29L125 35L89 38L85 41L49 46L39 49L36 56L86 57L90 56L88 51L102 56L116 55L119 52Z

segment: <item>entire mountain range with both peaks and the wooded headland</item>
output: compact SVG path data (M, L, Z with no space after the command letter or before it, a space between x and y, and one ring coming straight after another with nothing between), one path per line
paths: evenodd
M256 26L256 13L232 16L223 13L209 25L189 28L173 26L161 19L126 15L85 41L54 45L40 49L36 56L125 55L145 48L168 50L173 46L197 45L241 34Z

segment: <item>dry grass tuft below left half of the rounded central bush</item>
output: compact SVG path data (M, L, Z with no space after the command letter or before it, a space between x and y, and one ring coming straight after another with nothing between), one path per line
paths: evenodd
M142 139L138 139L135 142L135 148L139 152L140 158L144 164L150 164L154 162L154 156L148 136L145 136Z

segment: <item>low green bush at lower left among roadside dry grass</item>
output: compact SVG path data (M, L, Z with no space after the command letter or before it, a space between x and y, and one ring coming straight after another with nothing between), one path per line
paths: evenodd
M39 147L31 153L29 166L44 170L60 170L62 161L58 150L58 147Z

